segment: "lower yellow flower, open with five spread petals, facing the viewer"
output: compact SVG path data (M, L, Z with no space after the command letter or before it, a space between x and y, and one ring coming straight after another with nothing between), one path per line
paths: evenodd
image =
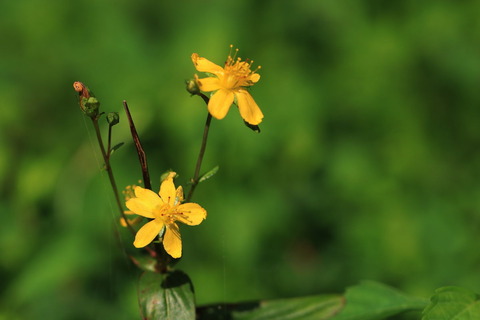
M135 187L135 197L127 200L126 206L135 214L153 219L138 230L133 242L135 247L147 246L165 227L163 247L173 258L180 258L182 240L176 221L195 226L207 217L207 211L196 203L182 203L183 189L180 186L175 190L173 183L175 175L175 172L168 174L158 194L152 190Z

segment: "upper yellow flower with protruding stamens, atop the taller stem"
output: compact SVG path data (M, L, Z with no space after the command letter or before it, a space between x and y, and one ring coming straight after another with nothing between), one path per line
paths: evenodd
M260 80L260 75L256 73L260 67L252 71L250 68L253 61L246 62L236 58L237 52L238 49L233 57L230 52L223 68L196 53L192 54L193 64L198 71L214 75L203 79L195 75L195 80L201 91L216 91L208 103L208 111L213 117L223 119L236 99L243 120L251 125L257 125L262 122L263 113L246 87Z

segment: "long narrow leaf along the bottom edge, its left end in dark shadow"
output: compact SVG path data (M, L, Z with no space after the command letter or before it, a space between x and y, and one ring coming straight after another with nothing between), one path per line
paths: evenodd
M277 299L240 304L209 305L197 309L198 320L322 320L342 309L339 295Z

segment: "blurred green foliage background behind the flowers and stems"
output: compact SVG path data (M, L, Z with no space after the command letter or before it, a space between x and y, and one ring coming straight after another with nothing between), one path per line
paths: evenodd
M262 132L214 120L178 268L199 304L341 293L361 279L428 297L480 291L480 2L2 1L0 319L136 319L94 132L72 83L119 111L121 188L192 176L205 105L193 52L261 65ZM103 121L102 121L103 123ZM120 232L123 233L121 230Z

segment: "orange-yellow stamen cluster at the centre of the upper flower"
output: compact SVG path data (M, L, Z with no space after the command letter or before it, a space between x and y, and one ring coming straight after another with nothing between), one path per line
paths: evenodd
M235 54L232 56L232 49L233 45L230 45L230 53L225 62L224 74L218 77L220 85L224 89L236 89L253 85L256 81L252 81L252 76L261 66L252 71L253 60L247 62L248 59L247 61L242 61L241 58L237 58L238 49L235 49Z

